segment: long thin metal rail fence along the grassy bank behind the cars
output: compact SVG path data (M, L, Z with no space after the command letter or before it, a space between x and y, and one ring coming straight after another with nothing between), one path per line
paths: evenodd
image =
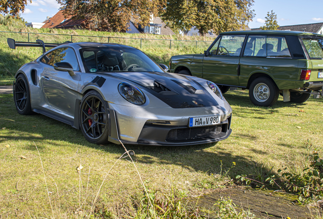
M75 34L59 34L59 33L34 33L34 32L13 32L13 31L0 31L5 33L20 33L20 34L27 34L28 35L28 42L30 41L30 35L37 34L37 35L57 35L57 36L69 36L71 38L71 42L73 42L73 37L87 37L87 38L102 38L108 39L108 43L112 39L130 39L130 40L138 40L138 44L140 41L140 49L142 48L143 41L166 41L169 42L169 48L172 49L172 42L190 42L190 44L195 45L198 48L198 44L206 44L209 45L213 41L187 41L187 40L165 40L165 39L145 39L145 38L124 38L124 37L117 37L117 36L95 36L95 35L75 35Z

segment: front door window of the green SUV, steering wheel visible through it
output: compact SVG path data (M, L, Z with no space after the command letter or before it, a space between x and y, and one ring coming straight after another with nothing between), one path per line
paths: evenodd
M240 56L245 35L222 35L216 55Z

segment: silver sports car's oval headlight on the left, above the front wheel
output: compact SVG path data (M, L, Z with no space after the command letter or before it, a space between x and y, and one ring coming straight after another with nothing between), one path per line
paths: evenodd
M118 90L124 99L133 104L142 105L146 102L144 93L131 84L122 82L118 85Z

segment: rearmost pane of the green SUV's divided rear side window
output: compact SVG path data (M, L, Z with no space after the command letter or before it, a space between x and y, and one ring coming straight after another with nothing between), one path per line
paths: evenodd
M267 57L291 57L284 36L267 36Z

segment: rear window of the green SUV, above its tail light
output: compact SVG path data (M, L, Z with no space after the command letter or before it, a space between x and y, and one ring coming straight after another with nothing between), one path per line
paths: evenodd
M323 38L302 38L311 59L323 59Z

